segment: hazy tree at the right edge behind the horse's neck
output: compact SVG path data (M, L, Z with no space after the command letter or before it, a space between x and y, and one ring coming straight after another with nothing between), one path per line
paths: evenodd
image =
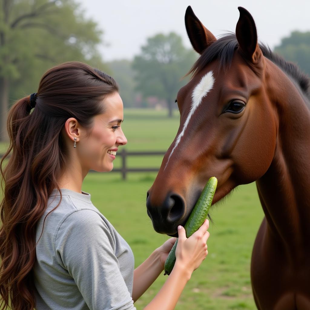
M275 52L286 60L295 62L310 76L310 31L293 31L275 47Z

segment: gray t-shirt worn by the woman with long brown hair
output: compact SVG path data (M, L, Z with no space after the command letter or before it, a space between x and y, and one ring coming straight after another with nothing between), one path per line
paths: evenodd
M133 310L134 256L91 195L53 189L38 221L36 310Z

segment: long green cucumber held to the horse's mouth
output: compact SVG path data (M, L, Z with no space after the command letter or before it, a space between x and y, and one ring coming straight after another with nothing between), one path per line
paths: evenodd
M215 194L215 189L217 186L217 179L213 176L209 179L206 186L201 192L201 195L193 208L192 213L189 215L189 218L184 225L186 238L189 238L198 228L203 224L207 218L210 206L212 204L213 196ZM165 262L165 273L170 274L175 264L175 249L178 244L178 238L175 241L170 253Z

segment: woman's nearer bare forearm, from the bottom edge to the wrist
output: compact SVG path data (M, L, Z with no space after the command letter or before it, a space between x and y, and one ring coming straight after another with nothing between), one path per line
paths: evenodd
M144 310L173 310L191 273L177 262L165 284Z

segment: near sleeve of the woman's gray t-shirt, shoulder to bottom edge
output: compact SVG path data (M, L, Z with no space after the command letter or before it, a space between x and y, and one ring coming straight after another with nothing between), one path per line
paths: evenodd
M69 215L57 232L55 251L91 310L136 310L120 272L113 237L95 211Z

